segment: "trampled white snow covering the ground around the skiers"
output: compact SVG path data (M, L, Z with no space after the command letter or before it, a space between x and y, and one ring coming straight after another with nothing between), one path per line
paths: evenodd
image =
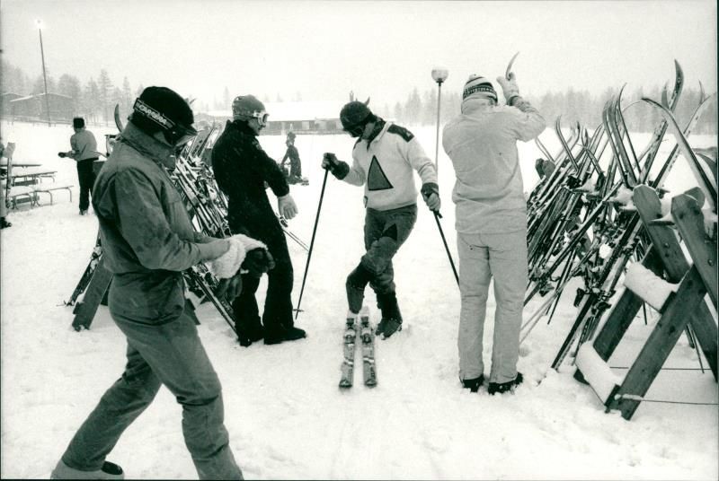
M112 131L90 128L98 138ZM432 156L434 128L413 131ZM71 134L67 126L2 125L4 142L17 144L15 161L43 162L58 170L58 181L76 186L75 163L57 157L69 148ZM542 138L555 152L554 134L547 130ZM261 137L275 158L284 153L283 141ZM715 139L692 142L709 145ZM349 136L297 137L310 185L292 186L300 214L290 229L306 243L322 187L322 153L349 160L351 145ZM662 150L671 146L667 141ZM520 155L530 188L538 153L534 144L522 144ZM679 161L672 179L676 193L693 185L684 163ZM441 153L439 178L442 227L456 259L450 199L454 174ZM125 338L107 308L101 306L90 330L75 332L72 308L62 305L84 270L97 232L92 214L77 214L77 194L75 187L72 202L59 192L53 206L45 200L44 206L11 211L13 227L2 231L2 477L49 477L75 430L124 367ZM550 369L575 315L573 284L552 323L540 320L522 345L519 370L525 383L514 395L491 397L461 389L457 285L424 206L395 258L404 330L377 340L377 388L359 383L340 391L343 284L363 252L362 223L361 188L330 176L297 319L308 332L306 340L244 348L211 305L198 310L200 337L224 388L230 444L245 477L716 479L716 406L644 402L627 422L604 413L592 390L573 380L569 361L560 372ZM297 302L306 253L293 241L288 244ZM368 304L376 322L369 290ZM490 310L485 339L492 339L492 298ZM533 311L528 306L526 312ZM610 365L629 365L655 322L653 313L648 326L636 319ZM485 343L487 362L490 352ZM666 366L698 368L686 337ZM357 372L356 379L360 376ZM708 371L662 371L647 398L716 403L717 385ZM130 478L196 477L180 422L181 408L162 389L110 459Z

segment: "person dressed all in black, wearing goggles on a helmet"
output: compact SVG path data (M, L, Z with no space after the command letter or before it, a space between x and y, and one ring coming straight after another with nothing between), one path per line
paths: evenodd
M253 95L232 102L233 120L212 147L212 170L217 186L227 196L230 231L262 240L274 258L268 272L267 295L262 312L254 294L260 278L243 276L242 293L233 302L240 345L251 345L264 337L264 344L279 344L306 337L292 319L294 273L287 240L265 192L265 182L278 199L278 210L286 219L297 214L289 186L280 165L262 150L257 136L267 125L268 114Z

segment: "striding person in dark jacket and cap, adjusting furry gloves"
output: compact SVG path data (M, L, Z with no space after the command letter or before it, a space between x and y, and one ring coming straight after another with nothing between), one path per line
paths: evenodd
M182 406L182 433L200 479L243 478L229 447L222 387L184 311L182 271L203 261L211 261L210 268L226 263L234 274L220 284L233 286L232 298L239 265L254 248L192 228L165 170L197 134L192 121L190 106L176 92L147 87L95 182L102 256L114 274L110 313L128 339L128 363L75 433L54 479L122 478L122 469L105 458L163 384Z

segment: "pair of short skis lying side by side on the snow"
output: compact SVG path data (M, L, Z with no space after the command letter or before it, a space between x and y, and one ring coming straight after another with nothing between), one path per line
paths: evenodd
M341 389L351 388L354 381L354 358L358 332L359 341L362 343L362 366L365 386L368 388L377 386L375 334L372 332L372 325L369 324L369 309L367 306L362 306L359 314L354 314L351 311L347 313L347 325L344 331L344 361L342 361L342 379L340 380Z

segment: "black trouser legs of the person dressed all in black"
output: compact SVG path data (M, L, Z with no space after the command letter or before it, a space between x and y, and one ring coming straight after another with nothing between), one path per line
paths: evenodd
M242 292L235 298L232 308L237 319L237 332L252 336L262 332L264 325L265 336L279 334L285 328L295 325L292 319L292 286L294 283L294 270L292 260L289 258L287 239L282 232L280 223L274 219L263 229L263 232L250 232L250 236L262 240L267 245L275 267L267 273L267 294L265 295L262 324L260 323L260 310L257 306L255 293L260 285L260 277L245 274L242 277Z

